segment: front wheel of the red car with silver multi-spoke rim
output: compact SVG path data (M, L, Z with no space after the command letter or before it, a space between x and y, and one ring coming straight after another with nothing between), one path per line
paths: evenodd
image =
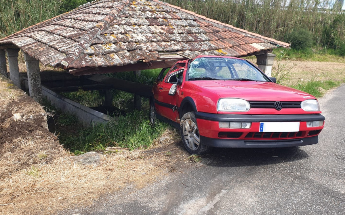
M183 144L191 154L203 155L210 151L200 140L200 134L194 112L186 113L180 123L180 132Z

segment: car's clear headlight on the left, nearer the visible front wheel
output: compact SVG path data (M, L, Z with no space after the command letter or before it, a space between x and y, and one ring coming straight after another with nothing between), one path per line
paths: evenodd
M248 101L240 98L221 98L218 100L218 111L248 111L250 104Z

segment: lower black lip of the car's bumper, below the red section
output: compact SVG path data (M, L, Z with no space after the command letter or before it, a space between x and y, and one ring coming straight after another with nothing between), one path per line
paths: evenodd
M316 144L318 136L289 140L234 140L200 136L201 142L215 148L282 148Z

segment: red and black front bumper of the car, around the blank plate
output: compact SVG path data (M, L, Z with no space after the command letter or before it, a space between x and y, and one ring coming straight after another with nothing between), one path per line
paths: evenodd
M245 115L196 112L203 144L221 148L276 148L316 144L324 126L307 127L307 121L322 121L321 114ZM249 129L219 128L219 121L251 122ZM298 132L259 132L260 122L300 122Z

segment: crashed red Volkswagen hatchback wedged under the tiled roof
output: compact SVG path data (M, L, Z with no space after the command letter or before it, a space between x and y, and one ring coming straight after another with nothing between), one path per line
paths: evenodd
M317 143L325 118L316 98L275 82L241 58L179 61L154 83L150 121L179 128L191 154Z

